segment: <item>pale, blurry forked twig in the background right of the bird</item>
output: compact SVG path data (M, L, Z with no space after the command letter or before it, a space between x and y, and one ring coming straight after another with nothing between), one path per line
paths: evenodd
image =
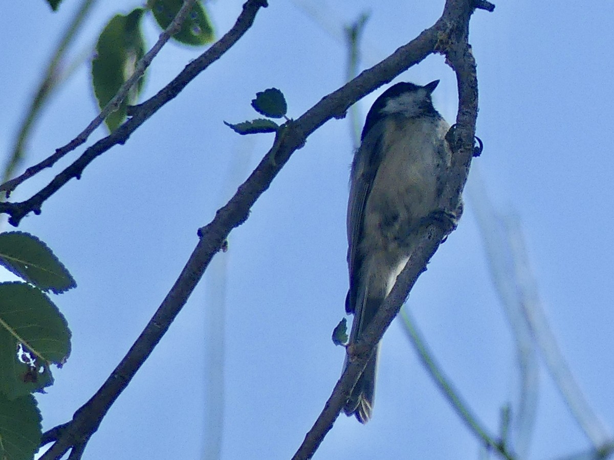
M611 445L612 435L588 404L548 325L518 221L495 212L483 186L477 188L480 181L479 177L476 179L478 181L474 181L470 190L475 189L472 196L475 197L476 216L487 248L491 274L515 333L521 371L529 378L529 381L524 382L521 396L524 396L525 401L518 411L519 417L527 418L527 420L519 419L525 431L524 434L523 432L520 434L525 439L520 438L522 443L516 451L519 454L526 451L524 445L529 443L530 429L534 423L537 396L531 393L536 391L536 377L531 375L537 371L529 369L529 366L537 367L534 362L535 353L532 350L534 343L540 350L567 407L593 443L593 447L599 449L601 446Z

